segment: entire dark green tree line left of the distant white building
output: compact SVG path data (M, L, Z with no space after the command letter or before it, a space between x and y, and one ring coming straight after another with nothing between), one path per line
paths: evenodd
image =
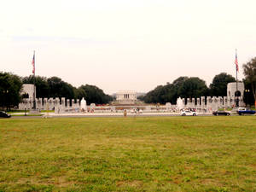
M13 73L0 72L0 105L4 109L17 107L19 102L27 95L20 95L22 84L33 84L35 82L38 98L66 97L67 99L79 99L83 97L88 104L105 104L113 101L95 85L82 84L79 88L68 84L58 77L45 78L41 76L28 76L21 78Z

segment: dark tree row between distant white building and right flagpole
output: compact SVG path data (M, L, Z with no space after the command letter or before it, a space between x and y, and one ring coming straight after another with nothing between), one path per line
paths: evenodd
M171 102L176 104L177 98L195 98L201 96L226 96L227 84L236 79L227 73L220 73L212 79L212 84L207 87L204 80L197 77L179 77L172 84L159 85L154 90L150 90L146 96L140 97L146 103Z

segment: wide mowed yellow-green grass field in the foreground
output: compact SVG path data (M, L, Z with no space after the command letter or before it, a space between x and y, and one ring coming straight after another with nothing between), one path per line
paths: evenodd
M0 191L256 191L256 117L0 119Z

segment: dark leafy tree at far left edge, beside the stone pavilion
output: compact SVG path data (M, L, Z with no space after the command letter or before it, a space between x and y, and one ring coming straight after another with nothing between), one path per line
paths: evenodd
M0 101L2 108L16 107L20 102L22 81L12 73L0 73Z

